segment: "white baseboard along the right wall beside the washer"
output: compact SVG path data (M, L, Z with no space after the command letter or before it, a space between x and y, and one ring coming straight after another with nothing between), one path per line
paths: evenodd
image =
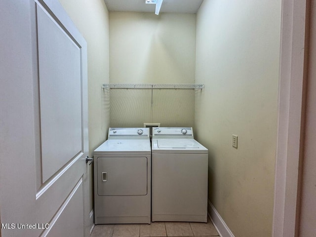
M207 200L207 212L220 237L235 237L210 200Z

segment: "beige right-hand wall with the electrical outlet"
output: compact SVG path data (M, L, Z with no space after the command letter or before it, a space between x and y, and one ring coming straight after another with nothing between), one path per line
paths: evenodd
M280 0L204 0L197 13L195 134L236 237L272 234L280 17Z

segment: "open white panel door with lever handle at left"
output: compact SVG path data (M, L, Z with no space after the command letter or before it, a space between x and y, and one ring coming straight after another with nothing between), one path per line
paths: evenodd
M0 21L0 236L87 237L86 42L58 0Z

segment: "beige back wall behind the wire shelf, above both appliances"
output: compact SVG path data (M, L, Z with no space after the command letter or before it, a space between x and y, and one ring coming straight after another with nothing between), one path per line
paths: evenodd
M196 14L110 12L111 83L194 83ZM193 90L112 89L111 126L193 126Z

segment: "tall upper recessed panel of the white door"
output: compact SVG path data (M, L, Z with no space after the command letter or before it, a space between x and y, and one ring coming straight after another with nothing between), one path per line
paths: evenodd
M82 148L80 47L37 8L42 182Z

